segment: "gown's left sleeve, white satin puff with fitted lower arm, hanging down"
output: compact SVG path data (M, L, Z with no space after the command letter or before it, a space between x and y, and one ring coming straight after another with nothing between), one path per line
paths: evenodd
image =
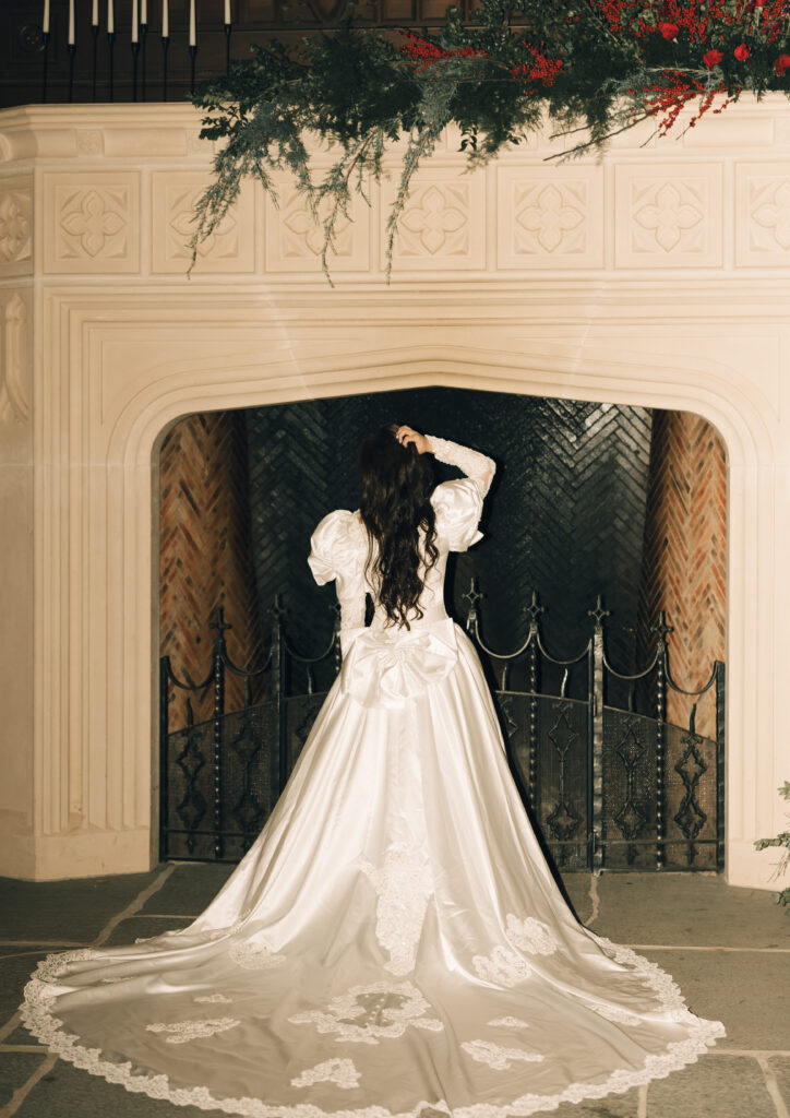
M318 586L335 580L341 605L341 628L364 625L364 539L353 512L335 509L310 538L307 562Z

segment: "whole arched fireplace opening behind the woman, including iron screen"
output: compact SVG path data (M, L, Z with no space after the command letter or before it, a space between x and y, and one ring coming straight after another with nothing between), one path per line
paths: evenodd
M238 861L272 811L340 666L310 534L356 508L356 447L391 420L497 461L447 605L560 871L722 869L721 437L692 413L439 387L201 413L165 435L160 856Z

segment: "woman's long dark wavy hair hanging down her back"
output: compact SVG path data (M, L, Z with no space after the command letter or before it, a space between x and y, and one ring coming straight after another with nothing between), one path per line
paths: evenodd
M398 442L400 426L388 424L360 446L360 514L368 529L369 580L379 585L388 620L410 628L406 619L409 610L416 608L416 616L422 617L417 606L425 578L425 574L420 577L420 528L425 528L426 571L439 558L430 503L436 479L430 454L419 454L413 444ZM373 540L379 544L375 557Z

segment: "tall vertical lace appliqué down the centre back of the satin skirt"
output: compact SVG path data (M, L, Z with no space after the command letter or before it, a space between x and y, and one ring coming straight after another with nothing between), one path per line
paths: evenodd
M375 937L390 953L384 969L394 975L411 974L428 899L434 891L430 869L419 851L399 844L391 847L382 866L365 862L362 870L379 897Z

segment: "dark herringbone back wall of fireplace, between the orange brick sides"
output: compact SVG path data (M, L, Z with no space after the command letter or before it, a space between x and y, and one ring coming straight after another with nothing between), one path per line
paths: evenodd
M510 651L537 589L546 636L570 643L570 654L583 645L586 610L601 591L612 608L613 654L630 666L650 452L645 409L427 388L251 409L245 418L259 601L286 590L303 646L329 635L334 600L305 562L310 534L330 509L356 508L359 443L393 420L497 462L486 538L455 563L447 603L455 616L466 616L463 594L476 575L487 643ZM439 480L457 476L437 467Z

